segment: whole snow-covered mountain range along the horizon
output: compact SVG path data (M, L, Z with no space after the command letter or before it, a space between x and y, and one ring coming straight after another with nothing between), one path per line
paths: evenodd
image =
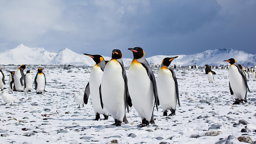
M207 50L202 53L194 53L191 55L155 55L146 58L150 65L161 64L165 57L174 57L172 65L198 65L204 67L208 65L228 65L227 62L223 62L226 59L234 58L239 64L243 66L252 67L256 65L256 55L248 54L244 51L238 51L236 49L214 49ZM110 60L110 57L105 57L105 60ZM129 67L132 59L123 58L124 66ZM50 53L44 48L29 48L23 44L14 49L10 49L3 53L0 53L0 64L47 64L47 65L84 65L93 66L95 62L92 58L83 54L78 54L70 49L62 49L58 53Z

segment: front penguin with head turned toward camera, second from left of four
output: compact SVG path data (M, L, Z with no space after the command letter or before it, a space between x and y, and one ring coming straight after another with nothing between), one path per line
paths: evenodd
M122 61L122 52L119 49L112 51L112 59L108 61L104 69L101 86L100 98L103 106L108 110L115 120L116 126L121 123L128 123L126 118L126 108L132 107L132 101L128 92L126 71Z

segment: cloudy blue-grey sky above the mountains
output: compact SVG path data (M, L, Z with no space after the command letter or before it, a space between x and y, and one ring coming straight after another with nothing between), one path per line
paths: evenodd
M256 0L0 0L0 52L23 43L146 57L232 48L256 54Z

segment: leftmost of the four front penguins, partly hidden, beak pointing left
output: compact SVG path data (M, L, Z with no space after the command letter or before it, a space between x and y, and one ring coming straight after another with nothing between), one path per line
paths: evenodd
M103 107L103 109L101 108L99 92L101 78L104 68L106 66L106 61L101 55L90 55L87 53L84 53L84 55L92 57L92 59L96 62L96 64L92 67L92 70L90 72L90 79L84 91L84 103L87 105L89 95L91 95L92 107L96 115L96 118L94 120L99 120L100 114L103 114L104 120L107 120L109 113L105 107Z

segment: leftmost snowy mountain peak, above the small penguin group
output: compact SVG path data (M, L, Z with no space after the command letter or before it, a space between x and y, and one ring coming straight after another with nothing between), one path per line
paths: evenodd
M23 44L18 45L14 49L4 51L0 53L0 64L1 65L38 65L46 64L52 60L57 53L50 53L44 48L29 48Z

